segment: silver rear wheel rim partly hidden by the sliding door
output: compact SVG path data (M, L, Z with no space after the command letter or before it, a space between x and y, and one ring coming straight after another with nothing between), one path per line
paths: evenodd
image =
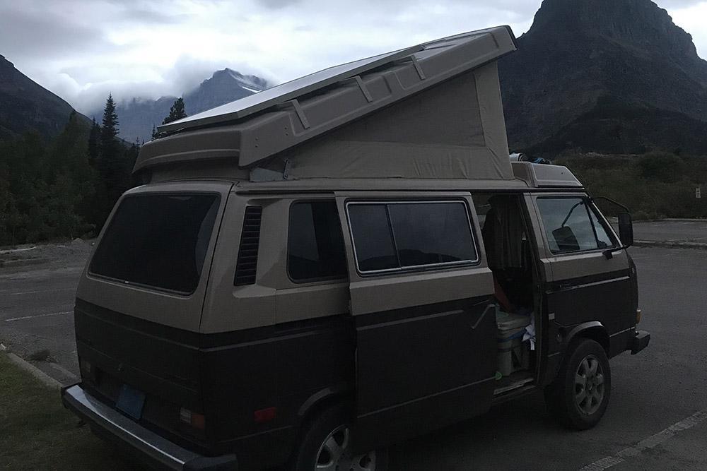
M375 471L375 451L353 456L349 445L349 427L332 431L319 448L315 471Z

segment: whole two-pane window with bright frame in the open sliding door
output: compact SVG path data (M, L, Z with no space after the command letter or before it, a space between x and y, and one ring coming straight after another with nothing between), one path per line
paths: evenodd
M461 201L350 203L358 270L402 270L477 261Z

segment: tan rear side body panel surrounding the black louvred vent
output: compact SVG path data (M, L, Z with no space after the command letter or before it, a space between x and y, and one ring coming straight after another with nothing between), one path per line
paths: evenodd
M348 280L294 282L287 272L289 209L297 201L334 201L334 193L248 196L232 192L216 246L202 333L227 332L307 318L345 314ZM254 285L234 286L240 228L246 205L262 207Z

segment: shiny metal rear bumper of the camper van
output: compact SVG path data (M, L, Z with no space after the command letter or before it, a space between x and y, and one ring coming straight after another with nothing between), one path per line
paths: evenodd
M96 434L127 446L154 467L189 471L238 470L235 455L204 457L177 446L94 398L79 384L62 388L62 403L88 423Z

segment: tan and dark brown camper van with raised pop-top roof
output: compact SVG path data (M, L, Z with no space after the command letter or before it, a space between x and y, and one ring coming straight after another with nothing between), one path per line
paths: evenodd
M631 217L510 162L515 47L469 32L161 126L81 276L64 405L177 470L385 470L538 390L597 424L609 359L650 340Z

